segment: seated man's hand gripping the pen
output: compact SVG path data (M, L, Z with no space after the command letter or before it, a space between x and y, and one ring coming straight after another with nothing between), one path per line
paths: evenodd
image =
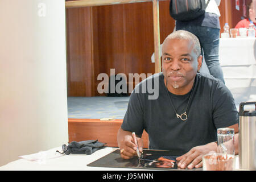
M142 152L143 140L139 137L136 137L136 138L138 142L139 152ZM135 155L137 155L136 153L137 146L135 145L135 141L131 136L131 132L119 129L117 140L118 140L118 146L120 148L121 158L131 159Z

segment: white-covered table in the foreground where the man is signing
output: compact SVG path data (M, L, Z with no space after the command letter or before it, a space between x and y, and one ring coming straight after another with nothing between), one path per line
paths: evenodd
M56 150L61 151L61 147L56 147L52 148L51 150L41 152L40 156L42 156L42 160L31 161L27 159L18 159L14 162L1 166L0 171L148 171L148 169L86 166L86 164L92 163L110 152L117 150L117 148L113 147L103 148L94 152L92 155L61 155L56 152ZM25 156L24 158L28 157ZM238 155L236 156L236 170L240 170Z

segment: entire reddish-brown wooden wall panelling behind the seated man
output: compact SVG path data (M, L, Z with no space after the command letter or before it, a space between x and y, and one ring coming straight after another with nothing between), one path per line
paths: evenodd
M168 4L159 2L161 43L174 29ZM100 95L97 76L111 68L154 73L152 16L151 2L68 9L68 96Z

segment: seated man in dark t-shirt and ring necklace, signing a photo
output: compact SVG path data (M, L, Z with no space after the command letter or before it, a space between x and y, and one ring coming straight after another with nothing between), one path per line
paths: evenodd
M117 135L123 159L136 155L132 132L142 152L145 130L150 149L178 151L178 167L199 168L204 154L217 151L217 128L233 127L238 132L238 113L228 88L213 76L197 73L202 63L200 49L199 40L188 31L175 31L164 40L163 73L143 80L131 93ZM149 93L138 93L138 89L154 79L159 82L154 85L159 97L148 100Z

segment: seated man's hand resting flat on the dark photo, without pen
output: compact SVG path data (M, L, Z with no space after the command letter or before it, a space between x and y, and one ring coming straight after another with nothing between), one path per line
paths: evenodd
M203 167L202 157L205 154L208 154L210 151L216 151L217 144L215 142L205 144L204 146L193 147L186 154L176 158L179 163L177 164L180 168L200 168Z

